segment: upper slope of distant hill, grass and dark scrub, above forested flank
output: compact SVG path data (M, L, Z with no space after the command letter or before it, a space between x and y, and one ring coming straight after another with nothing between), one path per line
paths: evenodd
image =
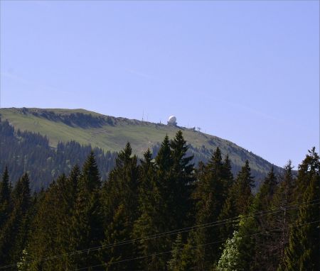
M142 156L147 148L157 149L157 145L168 134L174 138L180 129L191 145L195 162L208 160L215 148L219 147L223 155L229 154L234 172L237 172L245 160L250 161L252 173L259 179L267 174L272 164L244 148L206 133L183 127L167 126L128 118L105 116L84 109L0 109L2 120L8 120L16 130L32 131L47 136L49 144L56 147L58 142L75 140L82 145L102 148L105 151L118 152L130 142L134 153ZM276 171L280 167L274 166Z

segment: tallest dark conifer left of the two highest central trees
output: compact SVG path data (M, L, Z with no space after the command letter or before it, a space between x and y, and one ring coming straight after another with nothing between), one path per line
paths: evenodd
M132 156L131 145L127 143L119 153L116 167L110 172L109 179L102 189L105 216L105 240L102 241L102 245L132 238L134 221L139 217L138 176L137 157ZM100 259L108 270L124 270L129 268L132 262L124 262L122 265L112 265L112 262L114 259L132 257L134 253L132 244L122 245L112 250L102 250Z

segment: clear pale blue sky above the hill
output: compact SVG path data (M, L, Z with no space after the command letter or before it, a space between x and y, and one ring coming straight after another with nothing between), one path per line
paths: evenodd
M1 0L12 106L174 114L297 166L319 151L319 1Z

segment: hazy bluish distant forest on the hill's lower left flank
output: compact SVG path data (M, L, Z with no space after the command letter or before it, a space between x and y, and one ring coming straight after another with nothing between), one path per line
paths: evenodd
M8 121L1 119L0 146L0 172L8 165L13 183L23 172L28 172L32 180L31 190L37 192L42 187L48 187L61 174L69 174L73 165L82 165L91 151L95 153L99 171L105 179L114 167L117 156L117 153L104 152L75 141L58 143L56 149L50 148L48 138L27 131L14 131Z

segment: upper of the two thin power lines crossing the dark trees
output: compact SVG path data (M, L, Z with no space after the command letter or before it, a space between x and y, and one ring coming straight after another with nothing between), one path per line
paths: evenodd
M304 205L304 204L307 204L307 203L316 202L316 201L319 201L319 200L320 199L315 199L315 200L312 200L312 201L304 201L304 202L300 202L300 203L297 203L297 204L281 206L278 209L270 209L270 210L267 210L267 211L260 211L260 212L256 212L256 213L253 213L253 214L248 214L246 216L242 216L241 219L252 219L252 218L255 218L257 216L265 216L265 215L269 215L269 214L276 214L276 213L284 211L284 209L286 209L287 211L291 211L291 210L294 210L294 209L299 209L299 207L295 207L295 208L290 208L290 207L300 206L300 205ZM319 202L318 203L313 203L313 204L307 204L306 206L310 206L310 205L314 205L314 204L319 204ZM289 209L287 209L287 208L289 208ZM129 243L134 243L136 241L151 240L151 239L161 238L161 237L164 237L164 236L171 236L171 235L174 235L176 233L184 233L184 232L188 232L188 231L195 231L195 230L198 230L198 229L201 229L201 228L209 228L209 227L212 227L212 226L221 226L221 225L224 225L226 223L238 222L239 219L240 219L240 217L236 216L236 217L234 217L232 219L224 219L224 220L220 220L220 221L213 221L213 222L210 222L210 223L199 224L199 225L192 226L192 227L187 227L187 228L178 228L178 229L176 229L174 231L166 231L164 233L158 233L158 234L154 234L154 235L151 235L151 236L146 236L145 238L135 238L135 239L123 240L121 242L114 243L114 244L100 245L100 246L97 246L97 247L94 247L94 248L86 248L84 250L71 251L70 253L63 253L63 254L60 254L60 255L48 256L48 257L45 257L45 258L31 260L28 263L41 262L41 261L46 261L46 260L53 260L53 259L61 258L63 256L79 255L81 253L85 253L85 252L89 252L89 251L92 252L92 251L100 250L100 249L113 248L113 247L116 247L116 246L119 246L119 245L127 245ZM4 269L4 268L7 268L7 267L14 267L14 266L16 266L16 263L15 264L11 264L11 265L2 266L2 267L0 267L0 270Z

